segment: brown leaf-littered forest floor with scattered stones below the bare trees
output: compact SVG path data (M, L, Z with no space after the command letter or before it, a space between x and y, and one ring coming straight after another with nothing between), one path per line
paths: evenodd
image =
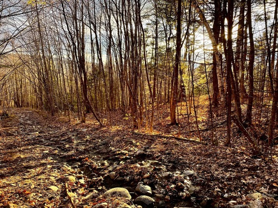
M81 124L13 109L0 120L0 207L278 208L277 145L272 159L253 157L233 125L232 145L223 146L223 115L215 132L219 145L213 146L210 131L201 131L203 144L140 135L130 130L127 115L114 113L113 125L99 127L92 117ZM166 125L169 118L160 116L156 134L178 136L180 131L189 138L186 115L179 115L184 119L179 127ZM207 116L198 118L201 129ZM192 131L190 136L198 139L199 134ZM135 190L138 184L149 190ZM103 194L115 187L126 188L132 199ZM139 195L149 195L155 203L150 198L133 201Z

